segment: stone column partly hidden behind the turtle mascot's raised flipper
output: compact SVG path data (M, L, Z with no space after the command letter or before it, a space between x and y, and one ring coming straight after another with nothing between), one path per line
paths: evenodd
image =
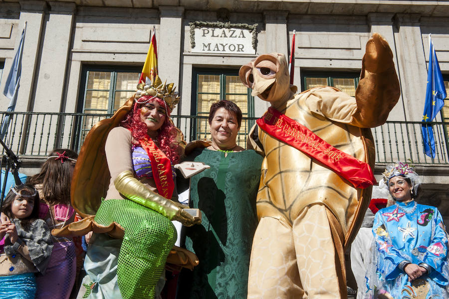
M398 78L401 82L401 73L399 72L398 57L396 54L397 48L395 35L393 32L393 17L394 13L370 12L368 13L367 19L368 25L370 26L370 35L378 32L387 40L388 44L390 45L390 48L393 52L393 62L395 63L396 73L398 74ZM407 85L401 84L401 86ZM404 99L402 96L402 91L398 103L388 116L388 120L405 120Z

